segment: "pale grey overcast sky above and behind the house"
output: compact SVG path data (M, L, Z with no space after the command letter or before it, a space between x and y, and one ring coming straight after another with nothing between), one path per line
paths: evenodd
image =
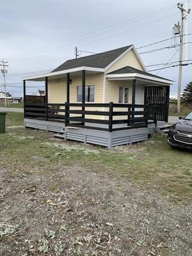
M184 2L191 7L191 0ZM130 44L141 47L172 37L173 26L180 20L177 3L177 0L0 0L0 58L9 65L7 91L22 95L21 77L30 76L29 72L51 70L74 58L75 46L82 51L102 52ZM189 24L192 13L185 22L188 30L184 33L192 33ZM185 39L192 42L191 35ZM138 52L170 45L174 45L173 39ZM184 45L184 60L192 60L191 48L192 44ZM178 50L174 47L140 56L145 65L167 63L171 58L170 62L179 60ZM81 56L87 54L82 52ZM162 67L147 67L147 70ZM177 95L178 71L178 67L173 67L152 72L175 81L172 97ZM192 65L183 68L182 89L189 81L192 81ZM2 84L3 77L0 91ZM28 83L28 86L27 93L35 93L42 84Z

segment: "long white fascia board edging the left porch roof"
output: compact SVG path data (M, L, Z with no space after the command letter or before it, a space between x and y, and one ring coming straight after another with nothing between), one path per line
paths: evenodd
M77 72L77 71L81 71L81 70L93 71L93 72L104 72L104 68L78 67L78 68L70 68L70 69L65 69L65 70L61 70L61 71L51 72L51 73L47 73L47 74L40 74L40 75L36 75L36 76L22 77L22 80L31 80L31 79L37 79L37 78L42 78L42 77L57 76L57 75Z

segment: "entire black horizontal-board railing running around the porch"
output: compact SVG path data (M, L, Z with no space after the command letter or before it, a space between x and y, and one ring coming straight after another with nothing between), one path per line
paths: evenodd
M148 127L149 122L157 123L155 106L113 102L47 104L47 106L45 103L26 103L24 116L65 122L65 126L69 127L109 132Z

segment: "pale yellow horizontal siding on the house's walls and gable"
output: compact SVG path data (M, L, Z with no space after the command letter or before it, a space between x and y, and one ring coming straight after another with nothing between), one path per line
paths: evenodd
M127 52L122 58L108 68L106 74L117 70L122 67L131 66L143 70L138 58L131 50ZM81 76L72 77L72 84L70 84L70 102L77 102L77 86L81 86ZM108 81L104 74L86 75L86 85L95 86L95 101L97 103L118 103L119 87L129 88L129 104L132 102L132 81ZM104 95L103 95L104 91ZM104 96L104 99L103 99ZM60 79L60 81L49 81L48 83L48 102L49 103L65 103L66 101L66 80ZM75 108L77 109L77 108ZM107 108L86 108L86 110L102 111L108 110ZM115 111L127 111L127 109L114 109ZM77 116L77 115L76 115ZM86 118L104 118L103 116L86 116ZM120 118L119 116L116 118ZM115 118L115 119L116 119ZM105 116L105 119L108 119Z

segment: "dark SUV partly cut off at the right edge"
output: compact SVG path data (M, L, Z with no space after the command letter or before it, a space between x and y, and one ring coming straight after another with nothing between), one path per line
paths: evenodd
M168 131L168 144L171 147L192 150L192 112L173 124Z

